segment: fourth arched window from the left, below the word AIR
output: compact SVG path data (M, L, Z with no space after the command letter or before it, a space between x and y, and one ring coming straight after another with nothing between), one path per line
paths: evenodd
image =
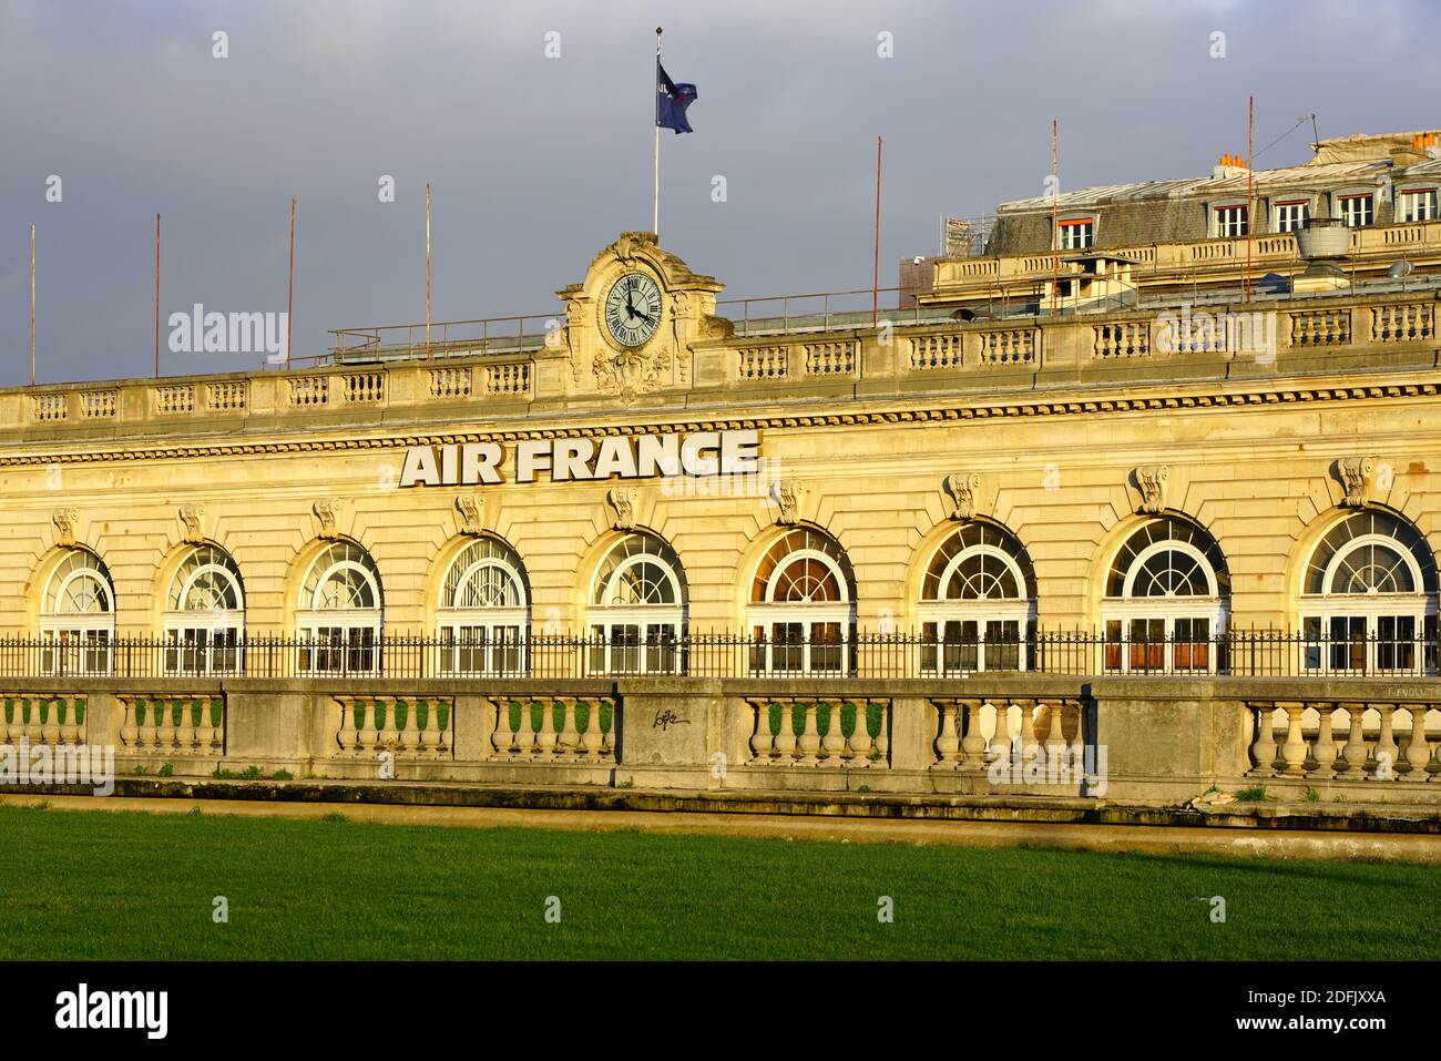
M445 572L437 610L441 675L519 675L530 636L520 556L496 538L470 542Z

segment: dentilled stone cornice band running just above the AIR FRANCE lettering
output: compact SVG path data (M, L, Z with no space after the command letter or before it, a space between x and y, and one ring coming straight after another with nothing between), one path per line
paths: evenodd
M1138 396L1085 396L1032 402L945 404L931 408L895 408L866 412L804 412L754 417L708 415L687 419L657 419L646 424L592 424L533 430L497 431L403 431L370 438L314 438L272 443L210 443L160 445L154 448L73 450L69 453L0 454L0 467L37 464L117 463L137 460L179 460L195 457L249 457L291 453L350 453L357 450L396 450L411 445L458 443L516 443L543 438L595 438L722 430L787 430L813 427L886 425L934 421L1006 419L1012 417L1085 417L1108 412L1151 412L1167 409L1210 409L1233 407L1288 405L1297 402L1370 401L1422 398L1441 394L1441 383L1366 383L1357 386L1294 388L1285 391L1239 391L1226 394L1170 394Z

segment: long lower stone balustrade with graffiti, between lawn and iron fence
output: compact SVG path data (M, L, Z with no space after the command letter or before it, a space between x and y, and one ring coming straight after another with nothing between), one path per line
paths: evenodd
M1434 679L36 679L4 748L121 776L1441 806ZM281 774L284 777L284 774Z

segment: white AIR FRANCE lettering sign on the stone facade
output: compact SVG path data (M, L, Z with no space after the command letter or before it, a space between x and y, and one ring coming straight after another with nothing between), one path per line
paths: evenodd
M656 476L749 476L761 456L759 431L608 435L525 440L514 447L514 481L651 479ZM401 486L484 486L506 481L500 443L412 445Z

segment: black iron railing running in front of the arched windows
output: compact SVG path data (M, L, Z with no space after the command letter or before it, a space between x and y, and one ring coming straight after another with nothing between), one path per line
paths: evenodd
M465 640L350 631L347 639L248 636L0 639L0 678L965 678L986 672L1245 678L1437 675L1437 639L1330 637L1231 630L1146 640L1095 630L1036 630L1010 640L916 633L767 639L735 633Z

